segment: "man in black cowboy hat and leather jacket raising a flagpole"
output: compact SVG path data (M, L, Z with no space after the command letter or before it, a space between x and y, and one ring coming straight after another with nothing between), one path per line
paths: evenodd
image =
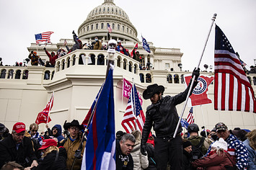
M199 71L199 68L193 71L193 76L195 75L193 89L198 84ZM156 156L157 169L167 169L168 162L171 169L182 169L181 124L177 130L176 138L173 138L177 122L179 121L179 115L175 106L185 101L190 84L185 91L174 97L162 97L164 86L158 86L157 84L147 86L143 93L144 99L150 99L152 104L146 109L146 121L141 138L141 153L146 154L146 140L153 126L156 133L154 155Z

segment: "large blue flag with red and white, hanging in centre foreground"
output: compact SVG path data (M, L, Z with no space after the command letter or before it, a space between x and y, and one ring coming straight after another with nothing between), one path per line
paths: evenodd
M100 92L89 125L81 169L115 169L115 107L112 69Z

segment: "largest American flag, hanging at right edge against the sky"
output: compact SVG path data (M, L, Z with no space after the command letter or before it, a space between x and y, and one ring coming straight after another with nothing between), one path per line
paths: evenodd
M214 109L256 112L256 99L244 69L224 32L215 29Z

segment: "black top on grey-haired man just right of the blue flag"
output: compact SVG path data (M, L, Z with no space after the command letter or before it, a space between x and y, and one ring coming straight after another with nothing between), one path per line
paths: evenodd
M128 156L123 155L120 143L116 143L115 148L115 164L116 170L133 170L133 157L131 154Z

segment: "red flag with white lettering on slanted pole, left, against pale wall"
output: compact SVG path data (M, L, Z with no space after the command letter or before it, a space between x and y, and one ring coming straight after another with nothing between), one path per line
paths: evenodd
M51 121L49 114L50 114L50 110L53 108L53 94L50 97L50 101L46 105L45 109L43 109L43 112L38 113L37 119L35 120L35 123L37 125L39 125L40 123L48 123Z

